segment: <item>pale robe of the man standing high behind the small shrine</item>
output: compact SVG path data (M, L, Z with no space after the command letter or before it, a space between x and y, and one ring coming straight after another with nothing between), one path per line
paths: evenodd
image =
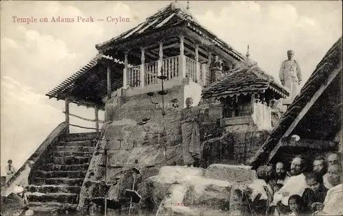
M289 89L289 97L283 99L283 104L292 104L293 99L299 93L298 80L301 80L301 71L296 60L285 60L281 64L280 81L285 83L285 87Z

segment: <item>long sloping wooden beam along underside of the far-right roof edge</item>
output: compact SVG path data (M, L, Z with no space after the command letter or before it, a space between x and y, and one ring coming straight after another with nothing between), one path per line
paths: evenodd
M314 94L314 96L310 99L310 101L304 106L304 108L299 112L298 116L296 117L296 119L294 119L294 121L292 122L292 124L289 126L289 128L287 129L287 131L285 132L285 134L283 134L283 136L281 137L281 139L279 140L279 143L276 145L276 147L274 147L274 149L272 150L272 152L270 152L269 156L268 156L268 160L267 162L269 162L270 160L272 160L272 158L275 156L276 152L278 152L279 148L281 147L281 140L284 137L287 137L291 134L291 132L294 130L294 128L296 128L296 125L298 125L298 123L300 122L301 119L303 119L303 117L305 116L305 114L309 111L309 109L314 105L314 103L316 102L316 100L320 97L320 95L322 95L322 93L325 91L325 89L327 89L327 86L329 86L329 84L331 84L331 82L333 81L333 79L338 75L338 73L342 70L342 62L340 62L338 64L338 67L332 71L332 73L330 73L329 77L327 78L327 82L323 82L322 85L320 86L320 88L318 89L318 91L316 91L316 93ZM301 139L301 137L300 137Z

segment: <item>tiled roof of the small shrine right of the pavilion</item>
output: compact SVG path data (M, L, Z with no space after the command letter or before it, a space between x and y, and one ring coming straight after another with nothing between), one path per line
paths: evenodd
M289 96L287 88L274 82L274 78L257 66L252 64L241 67L237 71L228 73L225 77L202 91L203 99L220 99L235 95L258 93L270 88L279 98Z

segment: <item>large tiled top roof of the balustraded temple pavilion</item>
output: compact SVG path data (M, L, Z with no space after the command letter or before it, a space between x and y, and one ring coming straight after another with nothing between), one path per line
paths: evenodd
M167 29L170 27L176 27L185 25L191 31L196 32L204 38L208 38L215 44L215 46L224 49L224 51L230 53L237 60L244 60L244 56L233 49L230 45L217 38L215 34L205 29L200 25L194 16L185 9L180 3L172 2L165 8L158 10L158 12L150 17L148 17L143 23L140 23L136 27L105 41L104 43L95 45L95 48L99 50L100 53L112 49L113 45L117 43L123 43L124 41L131 40L132 38L137 38L139 36L146 36L152 34L160 29Z

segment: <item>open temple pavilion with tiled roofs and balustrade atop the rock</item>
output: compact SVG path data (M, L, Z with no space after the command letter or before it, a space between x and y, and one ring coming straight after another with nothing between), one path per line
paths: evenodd
M202 88L211 82L209 67L214 56L223 62L223 73L245 59L197 23L178 2L95 47L99 51L95 58L47 93L50 98L66 101L67 121L70 102L95 108L95 116L97 110L106 110L108 122L119 115L132 117L132 113L139 121L153 108L146 94L161 90L162 81L166 107L176 99L183 108L187 97L197 105ZM158 78L161 75L163 80ZM138 98L140 103L136 103Z

